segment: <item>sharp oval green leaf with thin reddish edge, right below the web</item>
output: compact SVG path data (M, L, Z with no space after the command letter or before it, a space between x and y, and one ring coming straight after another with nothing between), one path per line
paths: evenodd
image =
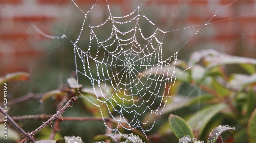
M171 129L173 130L175 136L178 139L180 139L184 136L187 136L187 135L194 138L194 135L193 135L192 131L190 130L190 127L188 126L188 124L186 123L186 121L183 118L181 118L177 115L175 116L173 114L170 114L168 120L169 120Z

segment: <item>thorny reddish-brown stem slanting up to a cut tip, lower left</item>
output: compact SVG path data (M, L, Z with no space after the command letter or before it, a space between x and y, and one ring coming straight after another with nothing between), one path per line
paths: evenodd
M63 113L72 103L77 102L77 99L72 97L67 104L63 108L61 108L59 111L57 111L56 114L54 114L49 120L47 120L44 124L42 124L40 127L38 127L36 130L34 130L32 133L29 134L29 136L35 136L37 132L39 132L42 128L44 128L46 125L51 123L54 119L56 119L61 113ZM25 137L20 143L25 143L28 141L28 138Z

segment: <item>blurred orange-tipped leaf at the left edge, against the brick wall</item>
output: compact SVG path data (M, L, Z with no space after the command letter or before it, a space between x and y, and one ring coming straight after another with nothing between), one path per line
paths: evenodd
M0 85L8 81L18 81L18 80L28 80L28 79L29 79L29 75L25 72L8 74L5 77L0 78Z

